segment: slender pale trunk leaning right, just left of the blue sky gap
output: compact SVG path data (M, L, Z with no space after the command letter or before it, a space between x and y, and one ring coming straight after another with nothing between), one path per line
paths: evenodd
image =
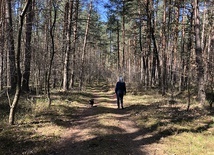
M79 82L79 88L81 90L83 88L86 45L87 45L88 32L89 32L89 24L90 24L90 20L91 20L91 12L92 12L92 0L90 2L90 6L89 6L89 12L88 12L88 18L87 18L87 23L86 23L86 28L85 28L85 36L84 36L83 48L82 48L80 82Z

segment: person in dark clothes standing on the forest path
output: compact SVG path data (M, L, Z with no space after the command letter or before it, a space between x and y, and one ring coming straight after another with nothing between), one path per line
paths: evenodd
M124 109L123 107L123 96L126 95L126 83L123 81L123 77L119 77L119 81L116 84L115 87L115 93L117 96L117 107L120 109L120 104L121 108Z

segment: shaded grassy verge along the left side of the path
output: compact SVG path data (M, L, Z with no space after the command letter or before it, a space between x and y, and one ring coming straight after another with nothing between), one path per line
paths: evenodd
M0 155L46 154L91 97L87 92L53 92L50 108L45 96L35 97L34 102L21 97L14 126L7 123L9 105L4 98L0 103Z

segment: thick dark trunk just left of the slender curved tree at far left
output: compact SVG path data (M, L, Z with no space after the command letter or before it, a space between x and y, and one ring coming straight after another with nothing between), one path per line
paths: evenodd
M17 71L15 62L15 45L13 36L13 22L12 22L12 6L11 0L6 2L6 19L7 19L7 33L8 33L8 48L9 48L9 64L10 64L10 85L11 90L15 90L17 83Z

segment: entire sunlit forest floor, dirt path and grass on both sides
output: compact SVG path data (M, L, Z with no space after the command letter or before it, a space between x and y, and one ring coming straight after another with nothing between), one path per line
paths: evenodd
M155 91L127 93L125 109L117 109L114 91L106 87L56 92L52 99L46 109L37 99L18 125L0 125L0 155L214 154L213 111L192 106L187 112L183 99L170 104Z

